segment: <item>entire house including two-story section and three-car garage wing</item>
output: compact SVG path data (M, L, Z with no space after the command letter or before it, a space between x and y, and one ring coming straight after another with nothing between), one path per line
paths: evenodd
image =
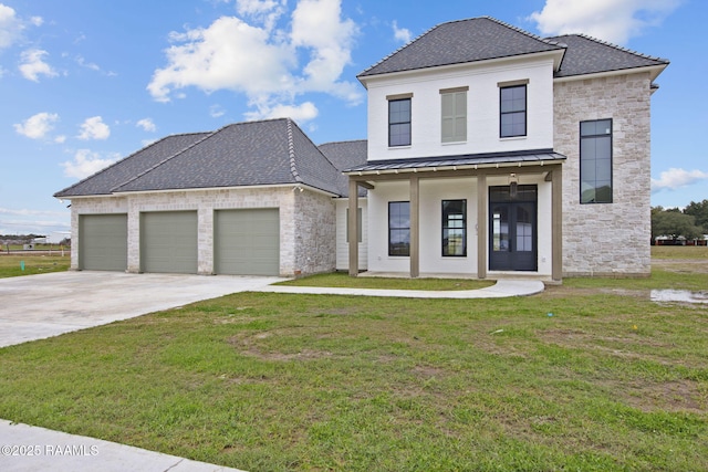
M358 75L367 140L233 124L58 192L72 268L647 275L650 97L667 65L492 18L439 24Z

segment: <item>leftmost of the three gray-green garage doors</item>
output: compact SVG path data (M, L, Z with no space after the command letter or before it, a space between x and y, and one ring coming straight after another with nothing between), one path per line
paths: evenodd
M125 271L128 266L128 216L79 217L79 269Z

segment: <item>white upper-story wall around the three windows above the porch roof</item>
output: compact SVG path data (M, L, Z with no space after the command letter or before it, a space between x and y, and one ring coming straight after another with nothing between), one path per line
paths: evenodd
M553 61L510 59L367 80L368 159L404 159L553 147ZM527 136L499 137L499 83L528 80ZM441 143L440 90L468 86L467 141ZM412 145L388 147L389 95L413 93Z

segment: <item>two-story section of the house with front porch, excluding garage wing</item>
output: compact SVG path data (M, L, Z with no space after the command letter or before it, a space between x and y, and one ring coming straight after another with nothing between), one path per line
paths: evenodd
M358 75L368 151L345 171L348 240L365 187L369 272L648 275L650 97L667 65L491 18L433 28Z

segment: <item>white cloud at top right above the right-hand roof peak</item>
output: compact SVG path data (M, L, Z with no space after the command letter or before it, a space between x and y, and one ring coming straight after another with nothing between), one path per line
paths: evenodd
M534 11L543 34L584 33L616 44L626 44L650 27L662 23L681 0L546 0Z

